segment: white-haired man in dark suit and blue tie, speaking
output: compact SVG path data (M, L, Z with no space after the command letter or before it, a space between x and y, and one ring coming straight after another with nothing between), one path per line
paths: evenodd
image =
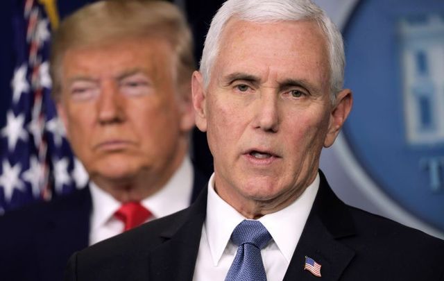
M66 280L443 280L443 241L345 205L318 169L352 108L344 64L311 1L226 1L192 78L207 189L76 253Z

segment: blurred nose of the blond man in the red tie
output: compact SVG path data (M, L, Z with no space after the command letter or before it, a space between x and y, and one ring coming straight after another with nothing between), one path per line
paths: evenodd
M125 118L123 96L117 83L105 82L97 101L98 121L101 124L121 122Z

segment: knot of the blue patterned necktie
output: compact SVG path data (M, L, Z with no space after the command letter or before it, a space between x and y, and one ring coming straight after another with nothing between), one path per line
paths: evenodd
M270 239L270 233L260 221L244 220L234 228L231 235L231 241L237 246L249 243L259 249L264 248Z

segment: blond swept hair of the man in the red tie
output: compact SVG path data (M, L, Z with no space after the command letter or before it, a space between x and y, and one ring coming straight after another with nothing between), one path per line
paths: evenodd
M69 49L138 37L167 40L177 56L178 84L189 82L196 67L193 40L187 20L176 6L155 0L98 1L64 19L53 33L50 58L53 98L60 98L62 61Z

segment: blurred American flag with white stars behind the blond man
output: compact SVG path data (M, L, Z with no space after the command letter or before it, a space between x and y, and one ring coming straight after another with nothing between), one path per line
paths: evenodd
M54 19L54 1L40 2ZM67 194L87 183L50 96L50 21L37 0L17 0L15 4L12 99L6 126L0 128L0 214Z

